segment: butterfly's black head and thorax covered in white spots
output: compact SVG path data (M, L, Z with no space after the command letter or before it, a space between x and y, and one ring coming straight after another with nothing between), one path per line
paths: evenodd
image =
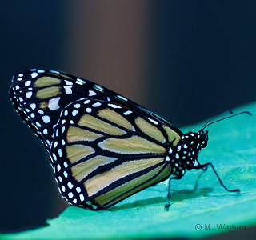
M191 170L197 162L199 150L207 146L208 131L199 130L184 134L177 146L170 148L173 175L182 177L186 170Z

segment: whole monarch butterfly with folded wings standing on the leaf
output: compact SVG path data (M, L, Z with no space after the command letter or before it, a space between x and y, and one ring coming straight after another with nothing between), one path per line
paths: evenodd
M210 162L198 162L208 141L205 128L213 119L198 133L183 134L112 90L54 70L15 74L10 97L50 152L59 191L71 205L106 210L169 178L168 210L171 179L207 166L228 190Z

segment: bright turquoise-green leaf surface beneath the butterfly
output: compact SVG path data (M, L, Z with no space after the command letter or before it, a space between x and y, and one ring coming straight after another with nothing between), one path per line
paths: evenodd
M236 110L256 114L256 103ZM149 239L202 238L232 231L232 226L256 225L256 128L254 115L242 114L207 129L209 143L199 154L201 163L212 162L229 189L220 186L213 170L191 170L171 184L172 204L166 212L167 182L159 183L105 211L68 207L49 226L4 239ZM198 131L203 123L186 127ZM218 230L222 224L223 230ZM200 226L202 229L199 230ZM198 230L196 230L198 227ZM240 227L241 228L241 227Z

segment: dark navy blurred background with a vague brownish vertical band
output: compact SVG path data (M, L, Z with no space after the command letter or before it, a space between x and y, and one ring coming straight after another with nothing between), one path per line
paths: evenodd
M64 210L42 143L9 102L19 70L62 70L177 126L256 100L254 1L3 1L0 232Z

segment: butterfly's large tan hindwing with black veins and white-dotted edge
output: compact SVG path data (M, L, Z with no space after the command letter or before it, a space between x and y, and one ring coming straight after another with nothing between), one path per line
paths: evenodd
M75 206L102 210L172 174L167 156L180 136L136 110L82 98L54 129L50 154L59 190Z

